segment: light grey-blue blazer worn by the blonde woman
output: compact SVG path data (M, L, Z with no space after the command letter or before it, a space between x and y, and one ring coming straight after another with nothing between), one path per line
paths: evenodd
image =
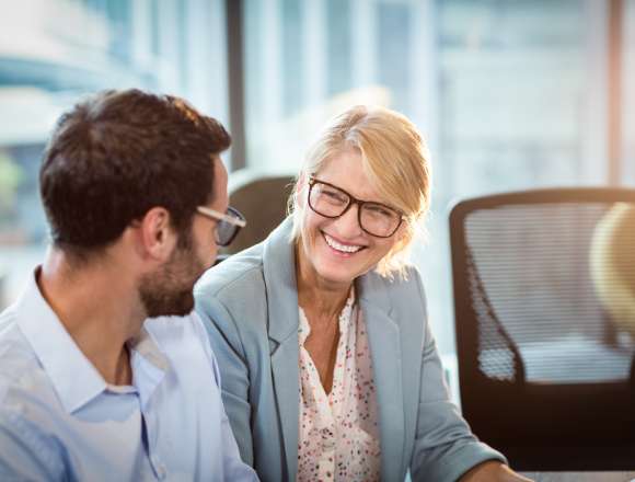
M291 220L207 272L195 288L218 359L222 397L243 460L263 481L295 481L300 406L298 292ZM382 481L454 481L505 458L481 444L443 382L418 272L356 280L379 406Z

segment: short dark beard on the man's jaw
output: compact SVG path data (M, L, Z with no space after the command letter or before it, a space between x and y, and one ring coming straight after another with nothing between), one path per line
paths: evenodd
M139 296L148 318L188 314L194 309L194 284L204 271L192 245L180 245L155 273L143 275Z

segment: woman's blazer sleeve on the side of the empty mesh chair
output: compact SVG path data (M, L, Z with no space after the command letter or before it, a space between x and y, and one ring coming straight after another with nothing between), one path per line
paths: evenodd
M414 282L425 307L424 287L418 273ZM427 315L424 319L419 402L411 460L413 481L450 482L486 460L507 463L503 455L478 441L451 402Z

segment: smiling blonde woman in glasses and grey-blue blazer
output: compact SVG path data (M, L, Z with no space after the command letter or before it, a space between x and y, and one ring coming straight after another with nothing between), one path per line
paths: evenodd
M262 480L524 480L449 401L405 261L428 202L414 125L354 107L310 150L292 215L197 286L226 410Z

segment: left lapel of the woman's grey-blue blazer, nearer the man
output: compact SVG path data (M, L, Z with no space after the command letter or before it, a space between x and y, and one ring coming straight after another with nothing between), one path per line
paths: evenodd
M298 291L291 219L286 219L267 239L263 272L267 289L268 335L272 375L282 429L289 480L298 471L298 421L300 417L300 368L298 341Z

